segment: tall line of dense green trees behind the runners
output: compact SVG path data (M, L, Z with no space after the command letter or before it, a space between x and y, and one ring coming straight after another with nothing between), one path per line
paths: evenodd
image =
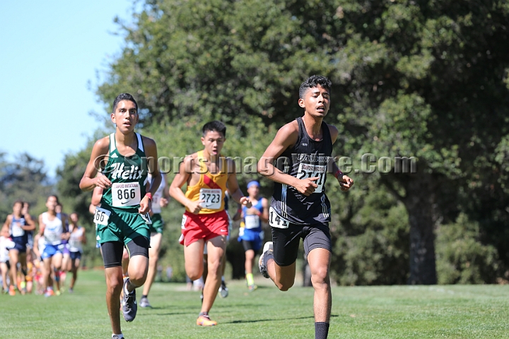
M413 172L353 172L347 194L329 185L334 279L509 279L506 1L146 0L142 7L117 19L125 44L96 94L107 110L119 93L133 94L141 131L160 155L199 149L199 127L220 119L228 124L227 155L259 156L269 136L302 114L300 83L327 76L335 155L350 157L353 169L367 153L416 158ZM83 210L76 180L85 154L66 157L57 184ZM181 208L171 210L176 227ZM168 239L166 250L181 250L175 242Z

